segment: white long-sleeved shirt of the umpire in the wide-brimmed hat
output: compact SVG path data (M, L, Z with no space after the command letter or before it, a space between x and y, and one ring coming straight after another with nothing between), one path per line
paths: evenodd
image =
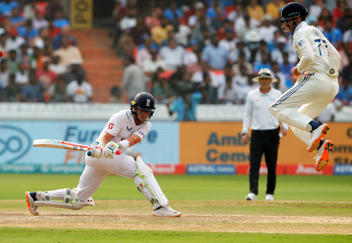
M248 134L251 122L252 130L271 130L279 127L279 121L270 113L268 106L282 95L281 91L271 87L268 93L263 94L259 88L247 95L242 133ZM288 130L287 124L283 123L282 126Z

